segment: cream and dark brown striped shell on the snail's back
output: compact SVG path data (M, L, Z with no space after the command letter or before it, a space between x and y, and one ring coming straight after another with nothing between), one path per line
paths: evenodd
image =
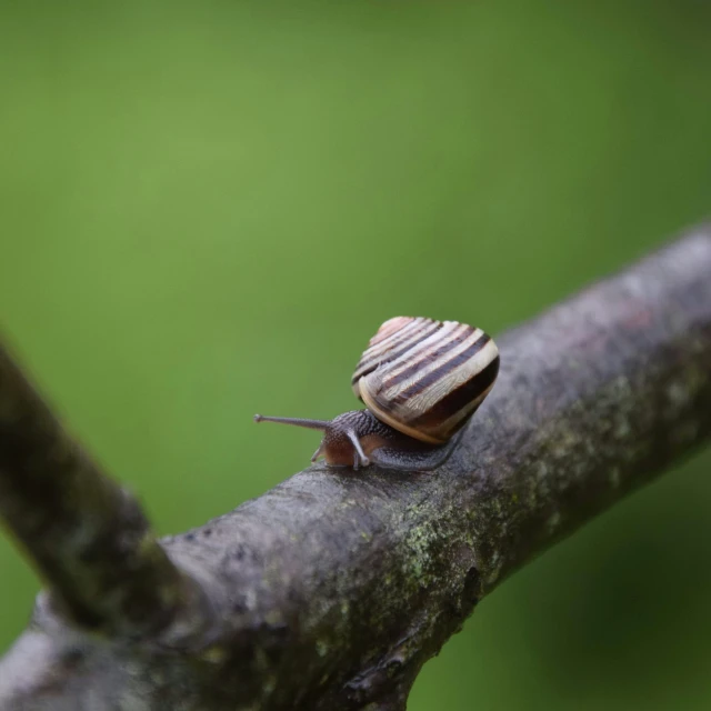
M498 372L499 349L481 329L401 316L370 339L351 384L379 420L439 444L474 413Z

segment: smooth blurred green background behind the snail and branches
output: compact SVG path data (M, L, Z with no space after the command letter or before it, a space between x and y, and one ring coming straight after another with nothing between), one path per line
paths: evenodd
M0 320L160 532L308 463L399 313L492 333L711 207L711 6L0 2ZM504 364L505 367L505 364ZM485 600L410 709L709 709L711 457ZM0 649L37 580L0 539Z

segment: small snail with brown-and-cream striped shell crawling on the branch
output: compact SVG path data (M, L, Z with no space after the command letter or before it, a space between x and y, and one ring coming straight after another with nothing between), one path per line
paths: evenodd
M499 349L481 329L457 321L395 317L370 339L351 385L367 410L333 420L256 414L322 430L311 461L427 471L444 462L454 437L493 388Z

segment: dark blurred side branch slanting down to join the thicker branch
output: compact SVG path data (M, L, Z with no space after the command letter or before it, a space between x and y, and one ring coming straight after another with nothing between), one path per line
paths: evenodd
M197 602L136 499L67 435L1 344L0 517L80 628L152 637Z

